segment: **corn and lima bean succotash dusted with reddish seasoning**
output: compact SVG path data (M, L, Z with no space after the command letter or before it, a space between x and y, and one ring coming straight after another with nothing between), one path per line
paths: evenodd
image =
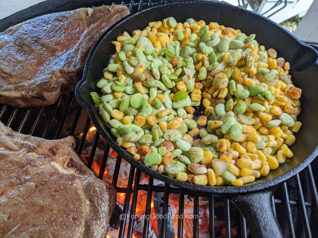
M301 127L289 63L254 38L216 22L150 22L113 42L91 96L117 143L151 169L200 185L253 182L293 156Z

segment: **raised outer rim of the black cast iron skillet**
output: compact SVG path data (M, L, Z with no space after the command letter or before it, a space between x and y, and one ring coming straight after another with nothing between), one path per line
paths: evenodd
M278 26L281 30L285 31L285 33L288 33L289 36L292 36L292 38L294 38L295 41L297 41L297 43L301 44L302 46L305 46L311 50L313 50L316 54L316 61L315 64L318 66L318 51L315 50L315 48L313 48L312 46L302 42L301 40L299 40L296 36L294 36L293 34L291 34L289 31L287 31L285 28L283 28L282 26L280 26L279 24L273 22L272 20L263 17L255 12L251 12L249 10L246 10L245 8L242 7L238 7L238 6L233 6L230 5L228 3L224 3L224 2L214 2L214 1L194 1L194 0L184 0L184 1L176 1L176 2L170 2L170 3L164 3L161 5L154 5L154 6L149 6L146 8L143 8L142 10L134 13L134 14L129 14L128 16L122 18L121 20L119 20L117 23L115 23L114 25L112 25L108 30L106 30L102 36L100 36L100 38L98 39L98 41L94 44L93 48L90 50L87 59L86 59L86 63L85 63L85 67L84 67L84 71L83 71L83 77L82 79L79 81L79 83L76 86L75 89L75 96L77 101L79 102L79 104L85 108L89 118L91 119L91 121L93 122L94 126L96 127L97 131L100 132L100 135L106 140L106 142L108 143L108 145L110 147L112 147L118 155L120 155L124 160L126 160L128 163L130 163L131 165L133 165L135 168L140 169L142 172L156 178L159 179L163 182L167 182L168 184L171 185L175 185L181 188L186 188L186 189L190 189L190 190L197 190L197 191L201 191L201 192L207 192L207 193L214 193L214 194L222 194L222 195L230 195L230 194L237 194L237 193L248 193L248 192L256 192L256 191L260 191L263 190L265 188L271 188L274 187L275 185L278 185L284 181L286 181L287 179L289 179L290 177L296 175L297 173L299 173L301 170L303 170L305 167L308 166L308 164L310 164L310 162L312 162L315 157L317 157L318 155L318 144L316 145L316 147L311 151L311 153L307 156L306 159L304 159L302 162L300 162L296 167L294 167L291 170L288 170L286 173L281 174L279 176L277 176L276 178L264 181L264 182L257 182L251 185L243 185L243 186L203 186L203 185L197 185L197 184L193 184L193 183L188 183L188 182L181 182L176 180L175 178L170 178L167 175L163 175L160 174L158 172L156 172L155 170L150 169L149 167L146 167L144 164L142 164L141 162L135 160L131 155L129 155L121 146L119 146L112 138L110 138L110 136L107 135L107 133L101 128L97 118L94 115L93 109L91 104L87 103L86 101L84 101L81 96L80 96L80 91L81 91L81 86L83 85L84 82L88 82L87 76L88 76L88 72L90 70L90 64L91 64L91 60L92 57L94 55L94 52L96 50L96 48L98 47L98 45L100 44L100 42L103 40L103 38L105 36L108 36L109 34L112 34L112 31L121 23L126 22L128 20L134 19L135 16L145 12L145 11L152 11L156 8L161 8L161 7L169 7L169 5L174 5L174 4L182 4L182 3L193 3L193 4L198 4L198 3L206 3L206 4L219 4L221 6L224 7L232 7L234 9L239 9L239 10L243 10L245 11L245 13L247 14L254 14L258 17L261 17L263 19L265 19L266 21L268 21L269 23L274 24L275 26Z

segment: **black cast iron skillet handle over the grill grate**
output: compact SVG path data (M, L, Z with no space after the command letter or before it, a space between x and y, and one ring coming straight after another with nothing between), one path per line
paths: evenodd
M272 196L276 188L232 197L232 202L246 218L253 238L283 238L273 210Z

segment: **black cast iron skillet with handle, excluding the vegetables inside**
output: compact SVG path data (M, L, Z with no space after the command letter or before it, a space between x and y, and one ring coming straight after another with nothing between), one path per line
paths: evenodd
M279 57L290 62L290 73L295 85L301 87L301 108L299 120L303 126L296 134L296 142L292 146L294 152L290 161L281 164L278 169L271 170L266 177L241 187L211 187L180 182L146 167L128 155L115 142L110 129L103 122L98 109L93 106L90 92L98 91L96 82L101 77L103 68L107 66L114 53L112 41L123 31L131 33L135 29L143 29L148 22L162 20L173 16L177 21L187 18L203 19L205 22L218 22L225 26L239 28L246 34L255 33L260 44L266 49L274 48ZM129 15L108 29L93 46L84 69L82 80L78 83L75 94L78 102L86 109L90 119L107 143L126 161L143 172L179 187L196 191L223 195L232 199L243 212L252 236L260 238L283 237L273 213L271 197L278 184L304 169L318 154L318 52L311 46L301 42L285 29L271 20L240 7L221 2L178 1L153 6Z

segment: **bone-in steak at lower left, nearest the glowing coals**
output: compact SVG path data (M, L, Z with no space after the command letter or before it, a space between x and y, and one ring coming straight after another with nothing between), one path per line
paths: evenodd
M0 237L106 237L116 190L74 144L72 136L45 140L0 122Z

